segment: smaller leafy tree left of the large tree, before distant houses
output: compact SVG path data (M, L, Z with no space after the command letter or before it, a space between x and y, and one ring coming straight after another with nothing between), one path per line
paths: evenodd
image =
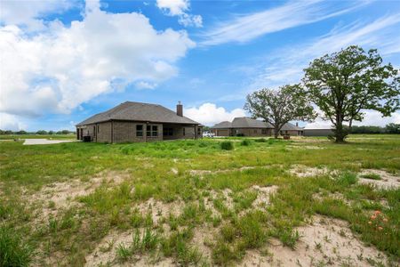
M253 118L262 118L274 126L278 137L282 126L291 120L312 121L316 113L300 85L284 85L277 90L261 89L247 95L244 109Z

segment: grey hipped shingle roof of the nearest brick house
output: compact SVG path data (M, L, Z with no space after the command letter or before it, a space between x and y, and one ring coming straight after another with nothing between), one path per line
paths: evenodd
M125 101L113 109L108 109L85 119L79 125L90 125L109 120L148 121L153 123L199 125L188 117L180 117L176 112L161 105Z

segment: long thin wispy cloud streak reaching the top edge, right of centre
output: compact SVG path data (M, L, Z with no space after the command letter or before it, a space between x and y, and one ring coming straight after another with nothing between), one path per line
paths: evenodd
M344 2L340 2L343 4ZM230 42L244 43L259 36L293 28L304 24L326 20L349 12L366 2L355 2L340 8L339 3L321 1L289 2L276 8L248 15L239 15L224 21L204 33L203 45L216 45Z

